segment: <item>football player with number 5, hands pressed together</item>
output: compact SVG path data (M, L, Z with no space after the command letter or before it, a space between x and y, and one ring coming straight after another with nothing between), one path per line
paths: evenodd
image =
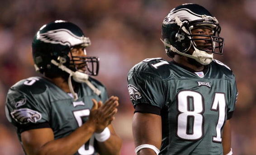
M13 85L6 116L26 155L119 155L111 122L118 97L108 98L97 75L99 58L86 56L90 39L73 23L43 25L33 38L35 68L43 77ZM104 104L103 104L104 103Z

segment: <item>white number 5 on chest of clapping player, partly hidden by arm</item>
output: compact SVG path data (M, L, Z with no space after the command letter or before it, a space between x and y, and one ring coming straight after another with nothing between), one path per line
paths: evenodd
M83 124L82 117L88 117L90 115L90 110L83 109L79 111L74 111L73 114L76 118L76 122L78 126L81 127ZM93 143L94 143L94 136L92 136L83 146L81 146L78 149L78 153L80 155L92 155L94 153Z

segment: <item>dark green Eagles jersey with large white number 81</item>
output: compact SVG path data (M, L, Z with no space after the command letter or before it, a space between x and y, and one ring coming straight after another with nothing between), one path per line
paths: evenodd
M135 111L161 115L159 155L223 155L222 128L232 117L237 98L235 77L217 60L205 68L193 72L152 58L129 71Z

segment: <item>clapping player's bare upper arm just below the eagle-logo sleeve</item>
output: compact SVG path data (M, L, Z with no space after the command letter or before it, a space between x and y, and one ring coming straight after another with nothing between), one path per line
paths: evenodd
M40 155L41 148L54 140L51 128L40 128L21 133L21 141L27 155Z

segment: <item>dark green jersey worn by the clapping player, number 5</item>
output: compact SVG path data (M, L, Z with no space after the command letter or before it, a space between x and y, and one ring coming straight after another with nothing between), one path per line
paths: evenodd
M86 84L79 84L76 101L71 94L41 77L31 77L13 85L7 94L6 116L16 127L19 140L21 132L43 127L52 128L55 139L62 138L86 122L93 106L91 99L103 103L108 99L105 87L95 79L89 80L100 89L100 96ZM92 136L75 155L95 155L94 144Z

